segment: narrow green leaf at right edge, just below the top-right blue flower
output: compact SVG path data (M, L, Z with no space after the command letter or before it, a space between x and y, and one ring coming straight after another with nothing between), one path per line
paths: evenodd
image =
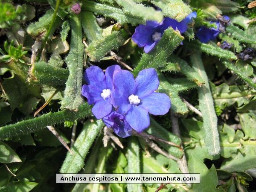
M237 26L230 25L226 27L227 32L230 32L232 37L240 42L256 44L256 36L249 35L246 31L239 29Z

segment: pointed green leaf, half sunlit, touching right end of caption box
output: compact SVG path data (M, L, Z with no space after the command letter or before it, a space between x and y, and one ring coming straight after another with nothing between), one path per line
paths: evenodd
M198 157L192 156L189 158L188 166L190 173L200 173L200 183L192 183L192 187L188 192L209 190L211 192L224 192L221 187L216 188L218 177L214 165L208 170L207 166Z

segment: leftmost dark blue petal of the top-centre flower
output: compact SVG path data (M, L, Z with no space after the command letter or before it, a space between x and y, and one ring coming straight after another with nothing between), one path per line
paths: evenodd
M134 34L131 39L139 46L144 47L146 44L150 43L152 36L152 31L148 29L145 25L139 25L136 27Z

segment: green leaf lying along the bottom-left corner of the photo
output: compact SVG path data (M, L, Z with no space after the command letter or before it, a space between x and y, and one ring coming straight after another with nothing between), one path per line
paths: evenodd
M30 182L30 181L15 181L8 183L5 186L0 187L1 192L29 192L31 191L35 186L37 186L38 183Z

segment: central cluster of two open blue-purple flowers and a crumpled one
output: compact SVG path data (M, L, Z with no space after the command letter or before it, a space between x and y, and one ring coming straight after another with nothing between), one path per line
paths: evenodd
M97 66L84 72L86 84L82 95L94 104L92 113L119 137L131 136L132 129L142 132L150 125L149 113L164 115L171 107L169 96L155 92L159 86L154 68L140 71L137 78L118 65L108 67L105 74Z

